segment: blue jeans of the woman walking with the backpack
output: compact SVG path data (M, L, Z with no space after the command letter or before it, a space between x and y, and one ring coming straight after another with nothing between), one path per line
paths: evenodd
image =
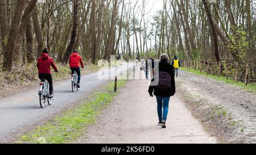
M170 97L156 97L156 100L158 102L158 118L159 122L162 122L162 120L167 120L167 115L169 111L169 101Z

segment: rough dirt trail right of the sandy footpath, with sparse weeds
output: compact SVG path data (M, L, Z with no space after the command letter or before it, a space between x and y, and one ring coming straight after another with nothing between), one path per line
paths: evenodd
M256 142L255 94L185 71L176 83L181 95L190 96L193 114L210 125L224 143Z

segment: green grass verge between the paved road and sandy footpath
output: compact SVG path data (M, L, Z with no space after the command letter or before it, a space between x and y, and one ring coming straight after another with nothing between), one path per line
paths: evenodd
M118 88L125 86L126 82L118 81ZM113 87L113 82L102 87L77 107L20 136L16 143L63 144L75 141L86 132L88 125L96 123L98 114L113 100L117 94L113 92Z

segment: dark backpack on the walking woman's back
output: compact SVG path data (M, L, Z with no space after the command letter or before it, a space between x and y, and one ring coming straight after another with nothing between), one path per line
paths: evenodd
M159 82L156 86L159 89L170 89L171 87L171 76L167 72L159 72Z

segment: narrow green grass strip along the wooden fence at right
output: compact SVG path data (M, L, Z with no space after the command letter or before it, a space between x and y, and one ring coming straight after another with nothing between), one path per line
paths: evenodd
M213 78L213 79L216 79L218 81L223 81L223 82L226 82L228 83L229 85L233 85L233 86L238 86L238 87L241 87L242 89L246 90L246 91L249 91L251 93L256 93L256 85L255 84L248 84L247 86L245 85L245 83L242 83L242 82L235 82L233 79L229 78L229 79L226 79L226 77L218 77L218 76L213 76L213 75L207 75L207 73L205 72L200 72L200 70L193 70L193 69L187 69L187 68L180 68L182 70L185 70L187 72L191 72L191 73L194 73L194 74L197 74L197 75L203 75L205 77L209 77L209 78Z

